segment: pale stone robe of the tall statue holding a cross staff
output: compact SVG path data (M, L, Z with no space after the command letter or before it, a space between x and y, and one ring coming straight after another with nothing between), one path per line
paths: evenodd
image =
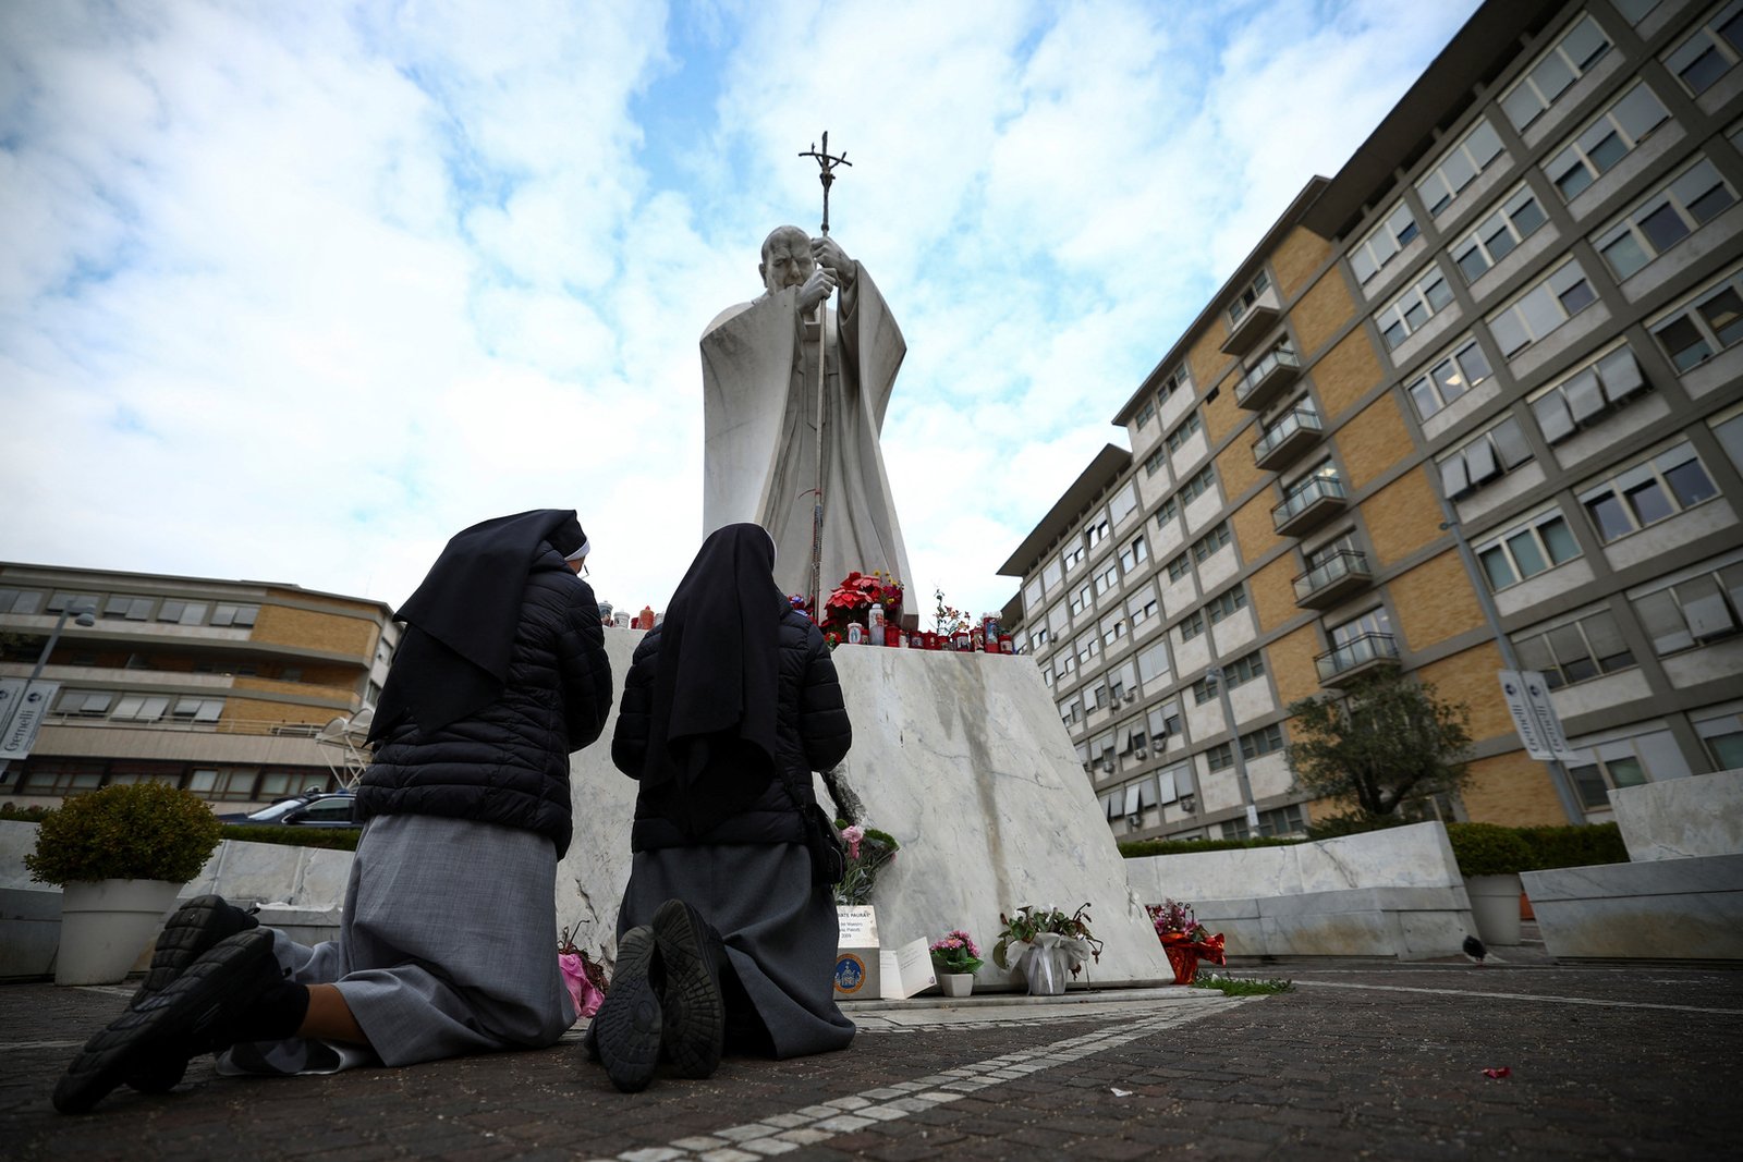
M817 324L797 303L798 287L763 294L720 312L702 334L702 535L736 521L767 528L784 592L810 589L817 486ZM826 315L819 587L826 598L847 573L882 570L912 591L878 446L908 345L858 263L840 312ZM912 613L912 596L906 605Z

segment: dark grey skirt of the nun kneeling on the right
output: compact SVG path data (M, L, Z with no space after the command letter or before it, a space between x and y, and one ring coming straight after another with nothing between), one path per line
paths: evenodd
M617 934L682 899L720 930L727 960L776 1057L845 1049L854 1024L835 1005L835 902L810 883L798 843L668 847L636 852ZM729 990L729 998L732 991Z

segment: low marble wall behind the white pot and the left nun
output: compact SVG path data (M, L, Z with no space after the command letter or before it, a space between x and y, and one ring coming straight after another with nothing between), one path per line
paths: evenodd
M35 847L37 824L0 819L0 979L51 976L61 946L61 890L24 868ZM181 899L216 892L242 908L281 904L261 908L261 920L317 942L338 934L349 875L350 852L225 840ZM150 955L146 948L136 967Z

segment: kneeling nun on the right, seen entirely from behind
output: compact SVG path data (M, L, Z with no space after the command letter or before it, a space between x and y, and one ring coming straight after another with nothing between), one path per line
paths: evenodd
M723 1049L797 1057L854 1037L805 826L812 772L852 726L823 634L772 571L763 528L711 533L624 685L612 761L641 786L617 976L587 1037L624 1091L662 1057L708 1077Z

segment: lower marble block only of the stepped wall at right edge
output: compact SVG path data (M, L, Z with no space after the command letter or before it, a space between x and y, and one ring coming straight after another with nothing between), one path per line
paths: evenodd
M1565 960L1743 960L1743 855L1527 871L1544 948Z

